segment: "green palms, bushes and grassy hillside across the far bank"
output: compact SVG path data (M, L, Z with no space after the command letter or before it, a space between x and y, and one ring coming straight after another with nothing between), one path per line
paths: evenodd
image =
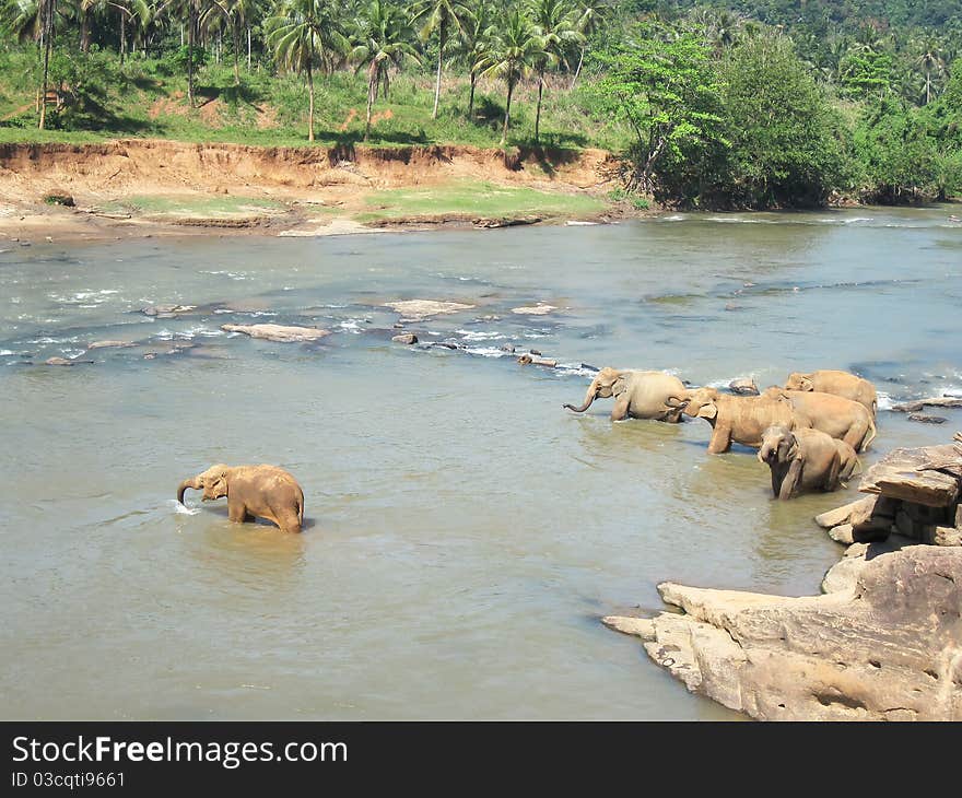
M597 146L689 207L962 192L954 0L0 0L0 141Z

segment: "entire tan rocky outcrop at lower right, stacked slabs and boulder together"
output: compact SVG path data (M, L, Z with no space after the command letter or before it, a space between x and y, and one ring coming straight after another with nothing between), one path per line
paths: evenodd
M822 596L666 583L683 613L603 622L707 695L772 720L962 720L962 433L895 449L816 521L846 544ZM922 543L934 543L925 545Z

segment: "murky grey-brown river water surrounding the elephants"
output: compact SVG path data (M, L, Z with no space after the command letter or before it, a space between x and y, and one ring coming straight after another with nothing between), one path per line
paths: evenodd
M606 630L656 584L802 595L841 547L709 429L583 416L580 364L693 384L854 369L962 392L951 209L608 226L150 238L0 253L0 716L729 718ZM2 248L2 247L0 247ZM397 300L472 309L410 324ZM512 308L547 303L544 316ZM190 304L153 318L140 308ZM225 322L318 325L318 344ZM81 355L91 341L142 345ZM168 354L178 343L193 349ZM500 347L564 367L523 367ZM144 359L148 352L157 356ZM945 443L881 411L865 459ZM177 483L274 462L306 529L231 525Z

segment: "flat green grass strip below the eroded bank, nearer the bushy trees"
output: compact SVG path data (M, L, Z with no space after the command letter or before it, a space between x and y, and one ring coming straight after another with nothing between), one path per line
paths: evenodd
M468 214L502 218L587 215L605 209L605 202L586 195L548 193L533 188L498 186L479 180L456 180L443 186L390 189L365 197L372 209L354 216L359 222L410 216Z

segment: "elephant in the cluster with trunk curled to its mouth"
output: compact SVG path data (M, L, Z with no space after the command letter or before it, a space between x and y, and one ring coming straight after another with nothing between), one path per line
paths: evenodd
M666 406L712 425L712 455L728 451L732 443L759 448L762 434L773 425L811 426L807 420L795 416L788 402L774 396L730 396L716 388L695 388L672 395Z

